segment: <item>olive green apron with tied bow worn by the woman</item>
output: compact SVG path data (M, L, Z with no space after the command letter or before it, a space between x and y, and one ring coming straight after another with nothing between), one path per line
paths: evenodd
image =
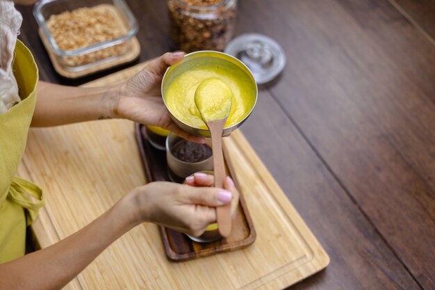
M24 255L26 227L44 204L38 186L15 177L26 147L38 85L36 63L19 40L13 72L22 102L0 114L0 263Z

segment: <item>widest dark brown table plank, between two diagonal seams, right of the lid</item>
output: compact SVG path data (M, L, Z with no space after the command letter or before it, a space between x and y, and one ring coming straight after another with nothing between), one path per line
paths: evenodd
M434 288L435 47L384 1L273 1L254 17L262 5L241 6L241 22L286 50L272 97L394 255Z

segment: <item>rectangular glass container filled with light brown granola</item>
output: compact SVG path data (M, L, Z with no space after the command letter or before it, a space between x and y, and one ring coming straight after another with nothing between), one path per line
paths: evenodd
M124 0L41 0L33 14L55 68L69 72L120 64L138 31Z

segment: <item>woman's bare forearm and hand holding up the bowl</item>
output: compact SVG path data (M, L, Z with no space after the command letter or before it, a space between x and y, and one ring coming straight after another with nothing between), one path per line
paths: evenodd
M187 140L204 143L204 137L192 136L172 121L161 96L163 74L167 67L183 57L182 52L163 54L136 76L112 86L81 88L40 81L31 126L124 118L162 127Z

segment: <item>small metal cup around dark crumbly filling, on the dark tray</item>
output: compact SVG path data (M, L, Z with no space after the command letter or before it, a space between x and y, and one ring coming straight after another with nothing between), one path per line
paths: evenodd
M213 170L213 156L199 162L186 162L175 157L172 154L172 148L179 140L183 140L183 138L173 133L167 135L166 138L167 170L172 182L182 183L186 177L195 172Z

